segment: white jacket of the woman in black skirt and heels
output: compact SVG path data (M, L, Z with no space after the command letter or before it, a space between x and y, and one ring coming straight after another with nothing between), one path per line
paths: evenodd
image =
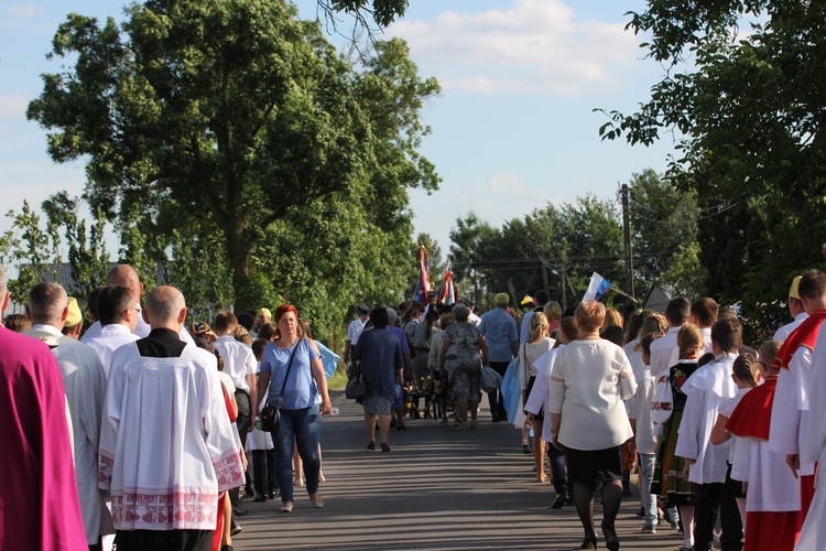
M605 450L633 436L623 400L637 391L631 365L604 339L574 341L559 352L548 411L562 413L558 441L574 450Z

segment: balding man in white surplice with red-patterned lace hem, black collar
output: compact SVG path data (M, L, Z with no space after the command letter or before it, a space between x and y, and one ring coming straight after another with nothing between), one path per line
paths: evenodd
M115 541L126 551L207 551L218 494L243 484L217 359L178 337L186 303L177 289L152 290L141 314L151 331L112 354L100 431Z

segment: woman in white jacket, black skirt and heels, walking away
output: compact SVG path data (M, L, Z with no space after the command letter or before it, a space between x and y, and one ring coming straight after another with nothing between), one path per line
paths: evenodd
M579 337L559 350L551 376L548 411L552 443L568 457L574 503L585 528L580 549L597 549L594 488L602 482L602 533L619 549L613 521L622 500L623 442L633 437L623 400L637 382L626 353L599 337L605 306L583 301L576 309Z

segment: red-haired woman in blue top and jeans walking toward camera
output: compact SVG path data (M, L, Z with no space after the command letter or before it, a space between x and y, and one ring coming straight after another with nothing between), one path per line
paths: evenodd
M298 311L282 304L273 314L278 333L264 348L253 411L267 395L268 403L281 400L281 423L272 434L275 446L275 473L281 488L282 512L293 510L293 441L304 462L307 494L315 508L324 507L318 494L320 458L318 436L322 415L333 410L324 376L322 355L315 343L298 333ZM320 395L318 403L316 397Z

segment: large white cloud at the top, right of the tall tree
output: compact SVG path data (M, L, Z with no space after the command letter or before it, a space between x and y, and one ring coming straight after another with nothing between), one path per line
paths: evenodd
M579 96L623 84L622 65L639 55L623 26L579 20L563 0L515 0L508 9L401 20L388 34L406 40L445 89Z

